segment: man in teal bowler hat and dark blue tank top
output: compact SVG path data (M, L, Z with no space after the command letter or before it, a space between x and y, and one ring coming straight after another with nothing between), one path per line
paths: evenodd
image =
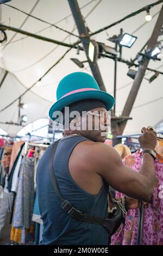
M125 202L122 199L122 207L138 206L138 200L129 197L151 199L156 134L142 129L140 172L124 166L116 150L103 143L114 102L114 97L102 92L84 72L74 72L60 81L49 117L66 129L58 145L47 148L37 168L41 244L108 245L110 233L97 222L108 215L109 185L128 196Z

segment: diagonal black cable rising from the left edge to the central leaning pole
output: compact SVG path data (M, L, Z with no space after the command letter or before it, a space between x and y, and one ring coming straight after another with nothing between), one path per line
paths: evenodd
M77 44L77 43L76 43L76 44ZM76 45L76 44L74 44L74 45ZM45 77L45 76L48 74L48 72L51 71L51 70L54 68L54 66L56 66L56 65L66 56L66 54L71 51L71 49L72 49L72 47L71 47L71 48L68 48L68 50L57 60L57 62L55 62L55 63L51 66L51 68L49 68L49 69L45 72L45 74L43 74L32 86L30 86L24 93L22 93L22 94L21 94L20 96L18 96L15 100L13 100L9 105L7 105L6 107L2 108L2 109L0 110L0 113L3 112L3 111L4 111L5 109L7 109L8 107L10 107L10 106L11 106L13 103L15 103L17 100L19 100L20 97L24 96L24 94L26 94L29 90L31 90L31 89L35 86L35 84L36 84L37 82L39 82L43 77Z

